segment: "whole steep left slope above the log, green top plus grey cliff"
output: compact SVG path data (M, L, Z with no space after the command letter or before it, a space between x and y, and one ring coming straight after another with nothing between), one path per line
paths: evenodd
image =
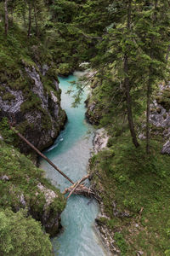
M15 25L8 38L0 36L0 120L3 117L41 150L53 143L66 119L52 56L37 38L28 41ZM15 145L30 151L18 140Z

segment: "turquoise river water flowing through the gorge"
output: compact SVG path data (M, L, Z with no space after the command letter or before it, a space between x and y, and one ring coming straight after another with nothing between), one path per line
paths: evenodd
M45 152L48 158L75 182L87 174L88 159L93 148L94 137L92 126L88 125L84 118L83 101L78 108L71 108L73 100L66 94L70 87L69 82L76 79L77 77L73 75L66 79L59 79L59 87L62 90L61 105L67 113L68 122L54 145ZM41 160L41 168L46 171L47 177L61 191L71 185L45 160ZM108 255L94 229L94 219L98 214L99 206L96 201L90 201L80 195L71 195L65 211L61 215L64 231L52 241L55 255Z

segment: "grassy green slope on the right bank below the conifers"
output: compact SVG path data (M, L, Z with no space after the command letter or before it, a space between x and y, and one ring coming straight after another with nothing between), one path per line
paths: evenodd
M90 166L105 212L111 218L105 224L122 234L114 238L116 245L129 256L139 249L147 255L168 255L169 156L160 154L161 144L156 141L151 142L150 155L145 153L144 142L135 149L127 132L111 137L110 150L114 155L101 151ZM117 212L128 212L131 218L115 217L113 201Z

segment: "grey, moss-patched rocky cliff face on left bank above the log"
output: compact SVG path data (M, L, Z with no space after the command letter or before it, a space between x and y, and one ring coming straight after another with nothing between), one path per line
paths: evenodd
M0 78L0 119L3 117L40 150L53 143L66 119L60 107L54 67L28 65L22 61L22 67L15 71L12 79L8 75L7 79ZM17 146L24 153L30 151L22 142L17 142Z

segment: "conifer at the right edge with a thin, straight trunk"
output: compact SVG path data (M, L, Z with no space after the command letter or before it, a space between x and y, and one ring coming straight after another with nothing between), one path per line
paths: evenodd
M150 153L150 103L153 85L166 76L166 55L169 42L169 1L153 0L147 5L139 1L136 34L143 52L144 88L146 88L146 152ZM165 9L167 10L165 12Z

